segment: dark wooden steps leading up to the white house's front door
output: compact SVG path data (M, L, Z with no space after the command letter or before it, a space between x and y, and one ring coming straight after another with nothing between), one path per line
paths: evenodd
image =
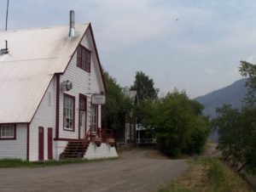
M68 141L60 159L82 159L89 143L89 141L84 142L84 140Z

